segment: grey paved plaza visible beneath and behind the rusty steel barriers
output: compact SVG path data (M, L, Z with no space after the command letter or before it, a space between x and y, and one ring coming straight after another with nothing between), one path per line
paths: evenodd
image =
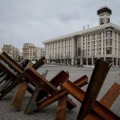
M93 68L79 68L72 66L43 66L39 69L40 73L43 73L45 70L49 70L47 79L50 80L54 75L56 75L59 71L65 70L70 74L70 80L74 81L82 75L87 75L90 79ZM98 100L104 95L104 93L111 87L114 83L120 83L120 69L119 68L111 68L109 71L107 78L104 82L104 85L99 93ZM83 87L85 90L87 86ZM7 94L3 99L0 100L0 120L55 120L56 116L56 108L57 102L44 108L43 110L33 113L30 115L24 114L24 108L26 107L28 100L30 98L30 94L26 92L23 105L20 111L15 111L14 107L11 106L11 99L15 93L15 89ZM73 101L77 103L77 108L72 111L67 110L66 120L76 120L77 114L79 112L80 103L73 98ZM111 110L115 112L117 115L120 115L120 96L115 101Z

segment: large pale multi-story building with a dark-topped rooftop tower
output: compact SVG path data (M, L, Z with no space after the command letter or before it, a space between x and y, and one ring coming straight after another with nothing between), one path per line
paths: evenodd
M44 42L48 62L94 65L97 58L120 66L120 26L110 22L112 11L97 11L99 26L60 36Z

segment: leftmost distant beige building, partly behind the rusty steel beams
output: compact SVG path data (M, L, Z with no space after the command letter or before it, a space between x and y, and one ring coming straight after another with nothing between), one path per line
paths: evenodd
M19 61L19 50L11 44L4 44L2 52L6 52L12 59Z

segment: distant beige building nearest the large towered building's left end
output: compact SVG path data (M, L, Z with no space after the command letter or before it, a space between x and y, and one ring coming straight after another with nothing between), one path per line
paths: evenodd
M43 56L42 49L34 46L34 44L24 43L22 48L23 58L39 60Z

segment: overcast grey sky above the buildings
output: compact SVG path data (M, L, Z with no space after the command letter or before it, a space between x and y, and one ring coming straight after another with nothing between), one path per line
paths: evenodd
M45 40L97 26L96 12L105 4L120 26L120 0L0 0L0 48L44 47Z

